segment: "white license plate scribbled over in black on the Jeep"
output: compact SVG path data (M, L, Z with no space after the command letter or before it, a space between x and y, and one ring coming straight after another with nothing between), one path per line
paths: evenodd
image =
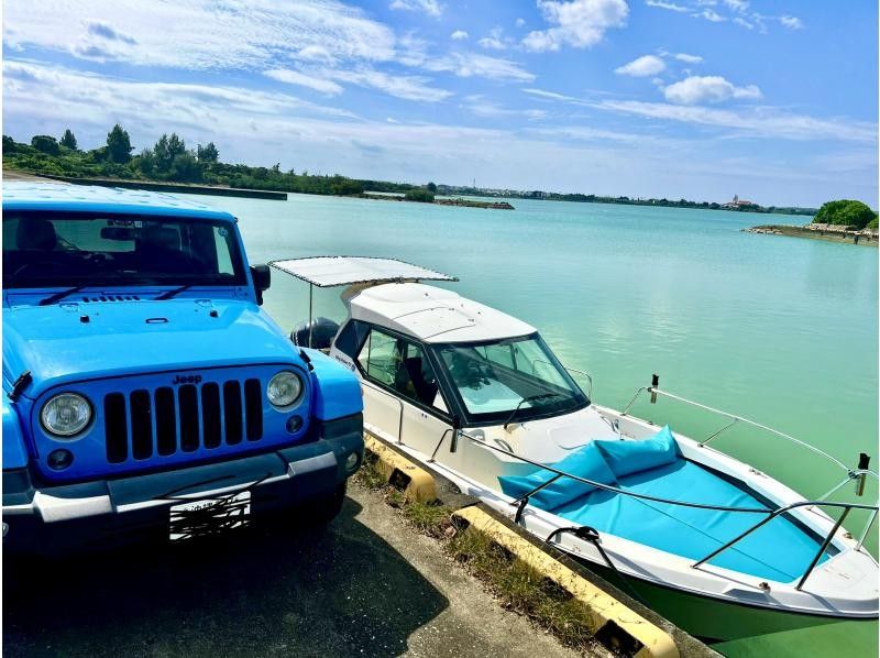
M168 538L180 541L243 528L251 519L251 492L188 501L170 507Z

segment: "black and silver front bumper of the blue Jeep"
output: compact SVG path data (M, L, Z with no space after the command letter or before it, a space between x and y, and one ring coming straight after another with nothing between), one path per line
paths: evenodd
M252 516L308 506L358 470L364 449L361 414L314 425L317 436L305 443L117 480L34 486L26 470L4 471L3 550L59 555L165 541L172 505L244 490Z

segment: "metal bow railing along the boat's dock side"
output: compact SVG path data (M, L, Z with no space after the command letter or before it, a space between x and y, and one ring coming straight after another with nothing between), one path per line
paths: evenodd
M823 539L822 546L821 546L818 552L816 553L816 556L814 557L813 561L811 562L810 567L801 574L801 580L799 581L799 583L796 585L798 590L800 590L803 586L803 584L806 582L806 579L810 577L810 574L813 572L813 570L815 569L816 564L818 563L818 561L822 559L822 555L828 548L828 545L834 539L835 534L840 528L840 526L843 525L844 520L846 519L846 517L847 517L847 515L849 514L850 511L853 511L853 509L865 509L865 511L870 512L870 516L869 516L869 518L868 518L868 520L867 520L867 523L865 525L865 528L864 528L864 530L861 533L859 541L858 541L858 544L856 546L856 550L861 549L861 546L862 546L862 544L865 541L865 538L867 537L868 531L870 530L871 526L873 525L873 523L875 523L875 520L876 520L876 518L878 516L878 511L880 511L880 502L878 502L878 503L876 503L873 505L868 505L868 504L864 504L864 503L843 503L843 502L824 501L824 500L799 501L796 503L792 503L792 504L783 506L783 507L778 507L776 509L771 509L771 508L768 508L768 507L732 507L732 506L726 506L726 505L710 505L710 504L706 504L706 503L693 503L693 502L690 502L690 501L675 501L675 500L671 500L671 498L662 498L660 496L652 496L652 495L649 495L649 494L637 493L637 492L634 492L634 491L627 491L625 489L620 489L619 486L605 484L603 482L596 482L594 480L588 480L586 478L581 478L580 475L574 475L573 473L566 473L565 471L560 471L556 467L543 464L541 462L528 459L527 457L522 457L521 454L517 454L513 450L501 448L498 446L493 446L491 442L488 442L483 437L474 437L474 436L469 435L468 432L465 432L465 431L463 431L461 429L459 429L457 431L458 431L459 436L464 437L465 439L469 439L470 441L472 441L473 443L475 443L477 446L482 446L483 448L487 448L490 450L494 450L494 451L499 452L502 454L506 454L506 456L512 457L514 459L517 459L517 460L519 460L521 462L531 464L534 467L538 467L539 469L542 469L544 471L549 471L550 473L553 473L552 478L550 478L546 482L542 482L541 484L535 486L529 492L522 494L521 496L519 496L518 498L514 500L510 503L512 505L517 507L516 515L514 516L514 522L517 523L517 524L520 522L520 519L522 517L522 513L525 512L526 506L529 504L529 498L531 496L534 496L536 493L538 493L539 491L541 491L542 489L549 486L550 484L552 484L553 482L558 481L561 478L569 478L569 479L574 480L576 482L581 482L583 484L588 484L588 485L594 486L594 487L600 489L600 490L609 491L609 492L613 492L613 493L616 493L616 494L620 494L620 495L624 495L624 496L629 496L629 497L641 500L641 501L650 501L650 502L654 502L654 503L663 503L663 504L668 504L668 505L678 505L680 507L691 507L691 508L696 508L696 509L711 509L711 511L714 511L714 512L730 512L730 513L734 513L734 514L763 514L763 515L766 515L763 518L759 519L757 523L751 525L748 529L746 529L744 533L741 533L740 535L738 535L734 539L730 539L729 541L727 541L726 544L724 544L723 546L721 546L716 550L712 551L706 557L704 557L701 560L697 560L696 562L694 562L692 564L692 567L695 568L695 569L698 568L701 564L707 562L708 560L713 559L717 555L719 555L719 553L724 552L725 550L729 549L734 545L738 544L740 540L743 540L747 536L751 535L755 530L757 530L758 528L760 528L765 524L769 523L773 518L777 518L778 516L782 516L784 514L789 514L793 509L796 509L796 508L800 508L800 507L807 507L807 508L810 508L810 507L828 507L828 508L842 509L840 516L837 518L837 520L834 523L834 526L832 527L832 529L828 531L828 534ZM441 441L442 441L442 439L441 439ZM860 469L853 471L853 473L855 473L856 476L867 475L867 474L873 474L876 476L876 473L871 473L870 471L860 470ZM847 476L845 482L848 482L849 480L850 480L850 476Z

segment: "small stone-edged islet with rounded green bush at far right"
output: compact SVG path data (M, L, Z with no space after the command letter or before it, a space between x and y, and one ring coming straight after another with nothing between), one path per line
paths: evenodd
M762 224L744 229L748 233L791 235L828 242L878 245L878 215L853 199L828 201L805 226Z

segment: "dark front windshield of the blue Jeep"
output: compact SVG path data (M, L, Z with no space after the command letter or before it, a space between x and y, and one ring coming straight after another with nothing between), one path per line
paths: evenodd
M3 288L245 285L237 233L210 219L3 213Z

